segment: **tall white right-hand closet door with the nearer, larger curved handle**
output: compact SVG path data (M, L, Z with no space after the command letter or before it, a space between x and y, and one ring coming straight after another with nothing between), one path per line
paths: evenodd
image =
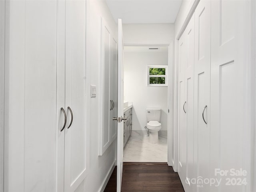
M210 37L211 2L200 1L195 10L194 173L203 179L210 177ZM210 190L209 184L194 188Z

